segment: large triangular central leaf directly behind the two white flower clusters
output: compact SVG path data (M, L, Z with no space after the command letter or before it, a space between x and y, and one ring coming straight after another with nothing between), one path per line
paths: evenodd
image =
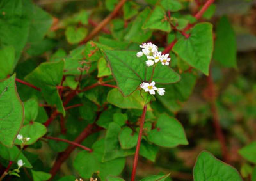
M102 50L108 60L113 77L122 94L127 97L144 81L150 81L153 67L146 66L146 57L138 58L135 51ZM170 84L179 81L180 76L172 68L156 65L152 81L156 84Z

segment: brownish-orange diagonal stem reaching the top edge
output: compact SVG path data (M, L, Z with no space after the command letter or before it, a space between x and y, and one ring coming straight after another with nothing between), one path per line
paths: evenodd
M119 1L119 3L116 5L115 9L113 10L113 12L111 12L108 17L106 17L104 20L102 20L102 22L100 22L100 24L98 24L98 26L96 26L92 32L86 36L86 38L83 40L83 42L81 43L86 43L88 42L89 40L91 40L94 36L96 36L100 30L102 28L104 28L104 26L106 26L106 24L109 23L109 21L111 19L113 19L113 17L115 17L115 15L119 12L119 10L122 8L122 6L124 5L124 3L126 2L126 0L121 0Z

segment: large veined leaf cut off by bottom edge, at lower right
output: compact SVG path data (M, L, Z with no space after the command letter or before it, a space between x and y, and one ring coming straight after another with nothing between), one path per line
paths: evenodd
M242 181L236 169L205 151L201 152L197 157L196 164L193 168L193 178L195 181Z

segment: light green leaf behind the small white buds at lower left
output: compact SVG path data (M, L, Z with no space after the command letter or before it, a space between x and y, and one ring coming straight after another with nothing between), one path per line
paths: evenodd
M29 141L26 142L26 145L32 145L35 143L39 138L44 136L47 132L45 125L42 125L38 122L30 122L27 125L24 125L20 130L19 134L23 137L29 137ZM15 144L21 145L21 141L16 139Z

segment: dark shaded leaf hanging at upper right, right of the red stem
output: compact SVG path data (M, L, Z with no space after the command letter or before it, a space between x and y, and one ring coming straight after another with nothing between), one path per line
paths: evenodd
M227 17L217 23L213 58L225 67L237 67L236 35Z

